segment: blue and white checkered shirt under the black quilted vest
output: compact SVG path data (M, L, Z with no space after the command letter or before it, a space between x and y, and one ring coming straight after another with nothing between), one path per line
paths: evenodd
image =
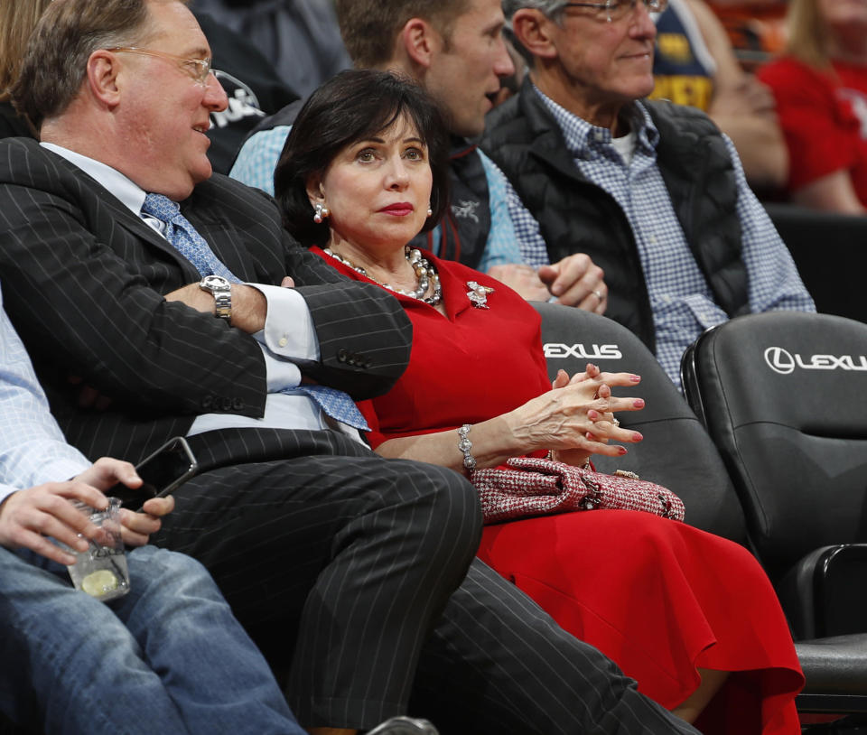
M611 131L592 126L534 88L555 117L566 147L578 170L607 191L629 219L648 285L657 334L657 359L680 386L680 358L708 327L728 316L713 302L713 293L686 244L683 228L657 166L659 131L646 107L628 109L635 132L635 154L626 163L611 144ZM750 191L741 160L732 141L723 135L734 163L738 186L737 213L741 219L741 258L749 274L750 311L776 309L815 312L788 248L768 214ZM527 211L509 183L509 214L525 263L548 263L548 254L536 219Z

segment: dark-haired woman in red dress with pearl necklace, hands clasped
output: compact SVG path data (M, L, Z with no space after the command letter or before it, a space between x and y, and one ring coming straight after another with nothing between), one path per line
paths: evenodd
M611 395L638 376L548 383L536 311L506 286L406 246L446 196L435 107L385 72L343 72L299 114L275 172L286 227L350 278L396 293L414 324L409 367L360 405L387 457L494 467L551 451L582 465L638 442ZM432 216L433 215L433 216ZM471 452L457 429L470 424ZM672 451L677 451L676 447ZM469 456L468 456L469 455ZM796 733L803 684L771 585L740 545L625 510L486 526L480 557L704 733Z

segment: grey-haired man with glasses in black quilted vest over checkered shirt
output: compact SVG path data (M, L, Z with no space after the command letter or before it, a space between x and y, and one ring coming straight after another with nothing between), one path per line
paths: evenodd
M643 100L667 0L504 0L530 74L489 115L482 147L506 174L521 253L587 253L606 315L679 385L701 332L750 312L815 311L747 186L732 142L692 107Z

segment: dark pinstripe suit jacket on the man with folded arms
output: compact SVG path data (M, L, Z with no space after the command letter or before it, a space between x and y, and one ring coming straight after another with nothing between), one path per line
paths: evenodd
M342 278L300 247L265 194L215 174L182 212L241 279L294 278L321 350L319 362L300 366L305 375L363 398L387 391L406 368L412 327L396 299ZM88 174L35 141L0 141L5 308L52 412L85 454L135 461L186 433L197 414L263 414L266 369L256 341L163 299L199 277ZM79 408L70 376L112 404Z

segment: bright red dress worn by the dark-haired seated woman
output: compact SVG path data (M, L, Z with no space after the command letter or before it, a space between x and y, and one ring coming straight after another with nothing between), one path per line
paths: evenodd
M425 255L448 317L398 297L413 349L396 386L359 404L374 448L484 421L551 387L536 310L477 271ZM494 288L489 309L471 305L469 281ZM794 698L804 679L788 625L741 545L647 513L599 510L485 526L479 556L669 709L695 690L697 668L734 672L696 723L705 735L800 731Z

